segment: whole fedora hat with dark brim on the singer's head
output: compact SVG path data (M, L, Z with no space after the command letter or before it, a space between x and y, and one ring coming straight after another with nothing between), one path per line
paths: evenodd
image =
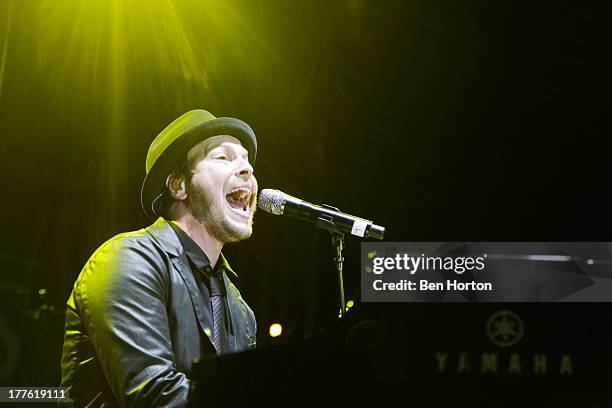
M185 160L189 149L217 135L229 135L238 139L249 152L249 162L255 164L257 139L248 124L234 118L216 118L202 109L184 113L157 135L147 152L140 203L149 219L154 220L159 216L157 210L170 172Z

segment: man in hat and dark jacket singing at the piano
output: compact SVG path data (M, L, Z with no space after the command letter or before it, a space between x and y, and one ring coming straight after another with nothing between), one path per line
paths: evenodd
M257 140L246 123L185 113L151 143L151 226L111 238L68 299L62 386L75 406L184 406L194 359L255 347L255 316L221 249L249 238Z

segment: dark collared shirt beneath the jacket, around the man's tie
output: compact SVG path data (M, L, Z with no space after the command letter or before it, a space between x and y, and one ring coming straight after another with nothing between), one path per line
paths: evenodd
M219 260L217 261L217 265L213 269L210 265L210 260L208 256L202 251L202 248L195 243L193 239L185 231L181 229L176 223L170 222L170 226L176 235L178 236L183 249L185 250L185 256L189 260L189 265L191 266L191 270L196 277L196 282L198 283L198 288L200 291L200 296L202 298L202 302L204 303L204 322L210 330L213 328L213 315L212 315L212 302L210 299L210 279L218 279L220 281L221 290L224 296L223 302L223 317L225 319L225 328L226 334L229 338L229 332L233 331L230 327L230 319L229 319L229 306L227 305L227 297L225 284L223 283L223 273L225 271L231 271L227 260L221 254L219 256ZM209 333L210 336L210 333Z

